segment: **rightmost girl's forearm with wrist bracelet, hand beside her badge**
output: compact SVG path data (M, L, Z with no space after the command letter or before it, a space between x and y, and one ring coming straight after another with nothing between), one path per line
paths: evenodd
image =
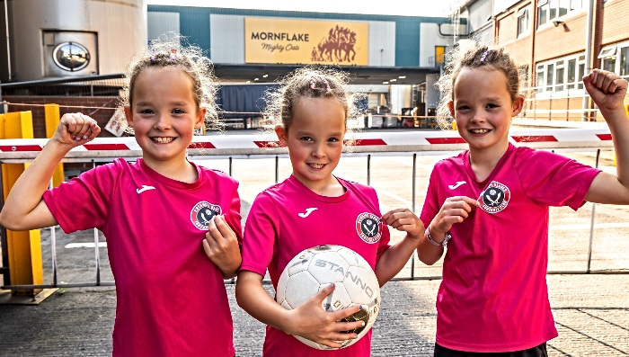
M430 221L430 237L435 243L442 243L446 239L446 233L452 225L463 222L469 213L478 206L478 201L465 196L449 197L443 202L441 210ZM417 247L417 256L422 263L432 265L437 263L443 255L444 247L433 245L428 239L422 239Z

